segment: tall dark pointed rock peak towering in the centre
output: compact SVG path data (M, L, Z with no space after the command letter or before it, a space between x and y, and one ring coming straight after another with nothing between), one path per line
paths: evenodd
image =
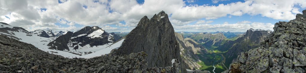
M147 62L150 67L167 67L171 66L172 59L180 60L179 44L164 11L151 19L144 16L137 27L125 36L121 47L110 54L127 55L141 51L148 54Z

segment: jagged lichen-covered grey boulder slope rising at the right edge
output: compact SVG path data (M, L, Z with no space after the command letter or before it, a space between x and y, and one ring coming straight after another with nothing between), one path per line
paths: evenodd
M306 10L289 22L278 22L262 47L242 52L226 72L297 72L306 71Z

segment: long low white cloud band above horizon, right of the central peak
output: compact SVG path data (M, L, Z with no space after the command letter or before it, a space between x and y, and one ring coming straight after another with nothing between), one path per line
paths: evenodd
M235 23L235 24L199 24L199 25L182 25L182 26L174 26L177 31L197 31L197 32L216 32L216 31L231 31L231 32L246 32L248 29L264 29L264 30L272 30L274 25L271 23L260 23L260 22L252 22L249 24Z

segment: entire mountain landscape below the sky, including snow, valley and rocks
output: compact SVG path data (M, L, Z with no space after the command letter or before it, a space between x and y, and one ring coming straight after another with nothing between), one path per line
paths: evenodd
M274 31L175 32L164 11L131 32L27 31L0 22L0 73L305 73L306 10Z

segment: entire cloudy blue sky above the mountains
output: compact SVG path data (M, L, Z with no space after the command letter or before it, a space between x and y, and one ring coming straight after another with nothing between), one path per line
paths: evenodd
M0 0L0 22L28 31L129 32L162 10L176 32L246 32L295 19L306 0Z

